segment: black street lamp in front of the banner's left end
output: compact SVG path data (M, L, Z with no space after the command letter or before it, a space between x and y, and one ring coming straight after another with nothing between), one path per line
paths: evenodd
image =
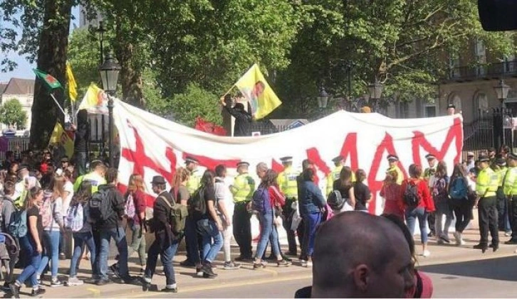
M104 60L104 63L99 67L100 79L103 81L103 89L108 94L110 167L113 167L113 96L117 91L118 73L120 69L120 65L118 65L111 54L106 55L106 60Z

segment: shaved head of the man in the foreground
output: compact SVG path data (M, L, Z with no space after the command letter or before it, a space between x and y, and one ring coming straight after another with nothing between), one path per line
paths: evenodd
M316 232L313 286L296 298L402 298L414 285L412 256L390 220L343 212Z

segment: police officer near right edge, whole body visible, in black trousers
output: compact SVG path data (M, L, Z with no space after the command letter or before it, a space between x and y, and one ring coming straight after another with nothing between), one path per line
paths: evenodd
M498 175L489 167L490 158L488 156L479 157L481 171L476 180L476 194L479 198L479 234L481 238L479 244L474 249L481 249L484 253L489 247L489 231L492 236L492 249L499 248L499 236L497 230L497 187Z

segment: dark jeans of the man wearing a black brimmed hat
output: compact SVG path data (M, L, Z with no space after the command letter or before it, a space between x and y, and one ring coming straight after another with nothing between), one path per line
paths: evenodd
M160 242L155 239L155 241L152 242L151 246L149 247L149 251L147 251L147 265L145 266L144 274L145 278L151 279L152 276L155 274L156 262L158 260L158 254L160 254L160 261L162 261L167 286L176 283L172 260L174 260L174 255L176 255L178 245L178 240L174 240L172 241L172 244L169 247L167 247L166 249L162 249L162 247L160 246Z

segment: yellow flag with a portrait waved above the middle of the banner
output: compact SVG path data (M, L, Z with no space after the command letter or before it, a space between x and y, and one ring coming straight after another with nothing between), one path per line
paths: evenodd
M282 104L256 64L235 83L235 86L248 99L251 104L251 114L255 119L263 118Z

